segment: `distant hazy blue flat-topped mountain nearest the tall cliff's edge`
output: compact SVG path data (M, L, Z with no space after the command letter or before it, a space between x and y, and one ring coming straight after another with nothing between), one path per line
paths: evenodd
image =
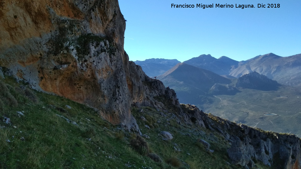
M149 77L156 77L162 75L167 70L171 69L180 61L176 59L146 59L144 61L136 60L135 63L142 67L142 70L145 72L146 75Z

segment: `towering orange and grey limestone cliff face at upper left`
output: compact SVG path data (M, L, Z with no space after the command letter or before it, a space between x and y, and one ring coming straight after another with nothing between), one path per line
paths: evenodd
M32 88L95 107L138 132L130 106L162 107L163 83L129 62L117 0L0 2L0 66Z

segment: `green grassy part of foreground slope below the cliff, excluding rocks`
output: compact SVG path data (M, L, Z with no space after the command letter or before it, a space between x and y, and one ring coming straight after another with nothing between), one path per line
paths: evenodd
M226 163L230 162L226 153L229 145L218 133L179 125L175 119L167 124L167 118L175 117L172 111L161 110L164 117L150 107L144 107L143 112L132 109L141 132L150 136L146 140L149 152L163 160L158 163L132 148L129 143L135 134L107 123L94 109L27 87L20 89L26 84L16 83L11 77L4 81L0 78L0 83L8 87L0 92L4 103L0 107L0 168L242 168ZM19 117L17 111L24 111L24 116ZM141 115L147 121L142 121ZM11 124L4 123L4 116ZM151 129L144 127L146 124ZM160 131L169 131L174 139L163 141ZM207 140L215 152L207 152L199 139Z

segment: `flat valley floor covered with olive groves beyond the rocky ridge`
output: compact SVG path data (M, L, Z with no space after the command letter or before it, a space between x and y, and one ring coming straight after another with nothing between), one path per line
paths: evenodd
M215 95L213 103L198 106L206 113L236 123L301 136L301 92L298 89L284 86L277 91L240 91L234 96ZM284 95L286 97L281 97Z

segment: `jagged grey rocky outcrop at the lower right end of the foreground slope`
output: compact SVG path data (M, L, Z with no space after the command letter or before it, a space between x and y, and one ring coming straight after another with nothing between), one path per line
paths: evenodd
M236 124L208 115L205 126L221 133L231 145L228 156L233 164L252 168L257 161L274 168L301 168L301 140L290 134L279 134Z

